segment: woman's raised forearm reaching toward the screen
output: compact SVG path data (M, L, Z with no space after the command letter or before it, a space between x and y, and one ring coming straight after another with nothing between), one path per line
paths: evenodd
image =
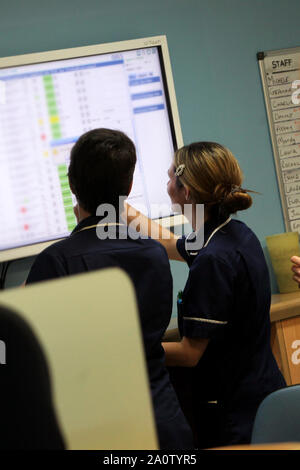
M176 243L179 237L174 235L169 229L162 227L159 223L154 222L129 204L124 204L124 214L122 217L127 224L139 232L141 235L149 236L159 241L166 249L169 259L184 261L177 251Z

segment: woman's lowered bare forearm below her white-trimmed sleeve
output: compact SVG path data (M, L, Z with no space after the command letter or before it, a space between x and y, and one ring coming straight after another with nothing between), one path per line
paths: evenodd
M162 343L166 354L166 365L171 367L195 367L208 345L207 338L187 338L178 343Z

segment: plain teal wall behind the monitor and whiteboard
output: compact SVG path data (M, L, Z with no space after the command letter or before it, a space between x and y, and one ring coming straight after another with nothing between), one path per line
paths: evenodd
M264 248L284 231L256 52L300 45L299 0L2 0L0 12L2 57L166 34L184 142L228 146L262 193L240 218ZM13 263L7 286L31 262ZM177 290L187 270L172 271Z

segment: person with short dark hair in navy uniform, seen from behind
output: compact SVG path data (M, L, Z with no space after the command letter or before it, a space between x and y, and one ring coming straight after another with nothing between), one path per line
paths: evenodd
M37 256L27 284L108 267L119 267L130 276L137 296L160 448L191 449L192 433L170 383L161 345L172 313L167 253L157 241L139 237L116 220L101 223L104 214L96 214L101 204L110 204L119 214L119 196L130 192L135 163L134 144L120 131L95 129L79 138L71 151L68 172L78 201L78 225L68 238ZM97 230L101 228L108 232L112 228L115 236L108 233L107 238L99 239ZM99 315L105 314L99 301ZM120 315L126 315L122 305ZM134 364L120 362L120 367Z

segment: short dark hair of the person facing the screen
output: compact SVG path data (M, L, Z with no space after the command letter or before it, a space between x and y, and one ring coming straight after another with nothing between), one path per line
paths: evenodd
M71 150L69 181L79 204L95 215L100 204L116 208L127 196L136 163L132 140L123 132L94 129L83 134Z

